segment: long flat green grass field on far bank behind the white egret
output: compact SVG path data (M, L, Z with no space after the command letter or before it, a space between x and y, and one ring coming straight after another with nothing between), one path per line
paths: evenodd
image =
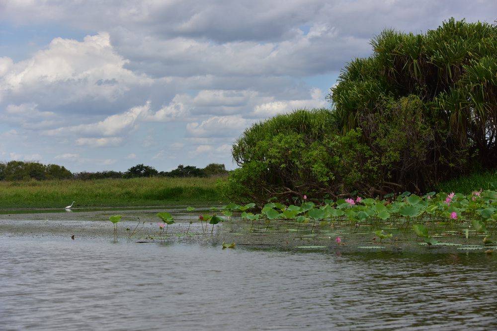
M0 209L226 204L215 178L133 178L0 182ZM74 207L74 206L73 206Z

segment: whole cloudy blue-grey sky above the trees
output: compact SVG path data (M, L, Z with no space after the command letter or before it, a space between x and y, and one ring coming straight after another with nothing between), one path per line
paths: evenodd
M0 161L235 169L253 123L330 108L384 29L497 19L495 0L0 0Z

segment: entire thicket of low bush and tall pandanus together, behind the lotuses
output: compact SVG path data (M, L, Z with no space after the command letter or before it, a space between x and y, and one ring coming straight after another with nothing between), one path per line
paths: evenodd
M276 116L235 141L230 197L423 192L495 167L496 25L452 18L426 34L385 30L371 45L331 88L331 110Z

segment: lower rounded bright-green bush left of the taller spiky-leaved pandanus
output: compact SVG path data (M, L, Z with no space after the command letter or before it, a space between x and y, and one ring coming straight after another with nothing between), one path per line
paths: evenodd
M327 109L301 109L254 124L233 145L242 167L219 186L230 199L262 203L271 197L336 196L344 183L369 180L369 164L360 161L368 153L361 131L340 135L330 130L333 123Z

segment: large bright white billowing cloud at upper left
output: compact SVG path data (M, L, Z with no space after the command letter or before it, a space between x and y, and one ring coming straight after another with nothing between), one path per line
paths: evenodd
M124 68L129 61L114 53L109 38L107 32L86 36L83 42L55 38L28 60L14 64L1 58L0 98L48 93L58 96L52 101L59 105L115 101L135 84L151 84L145 75Z

